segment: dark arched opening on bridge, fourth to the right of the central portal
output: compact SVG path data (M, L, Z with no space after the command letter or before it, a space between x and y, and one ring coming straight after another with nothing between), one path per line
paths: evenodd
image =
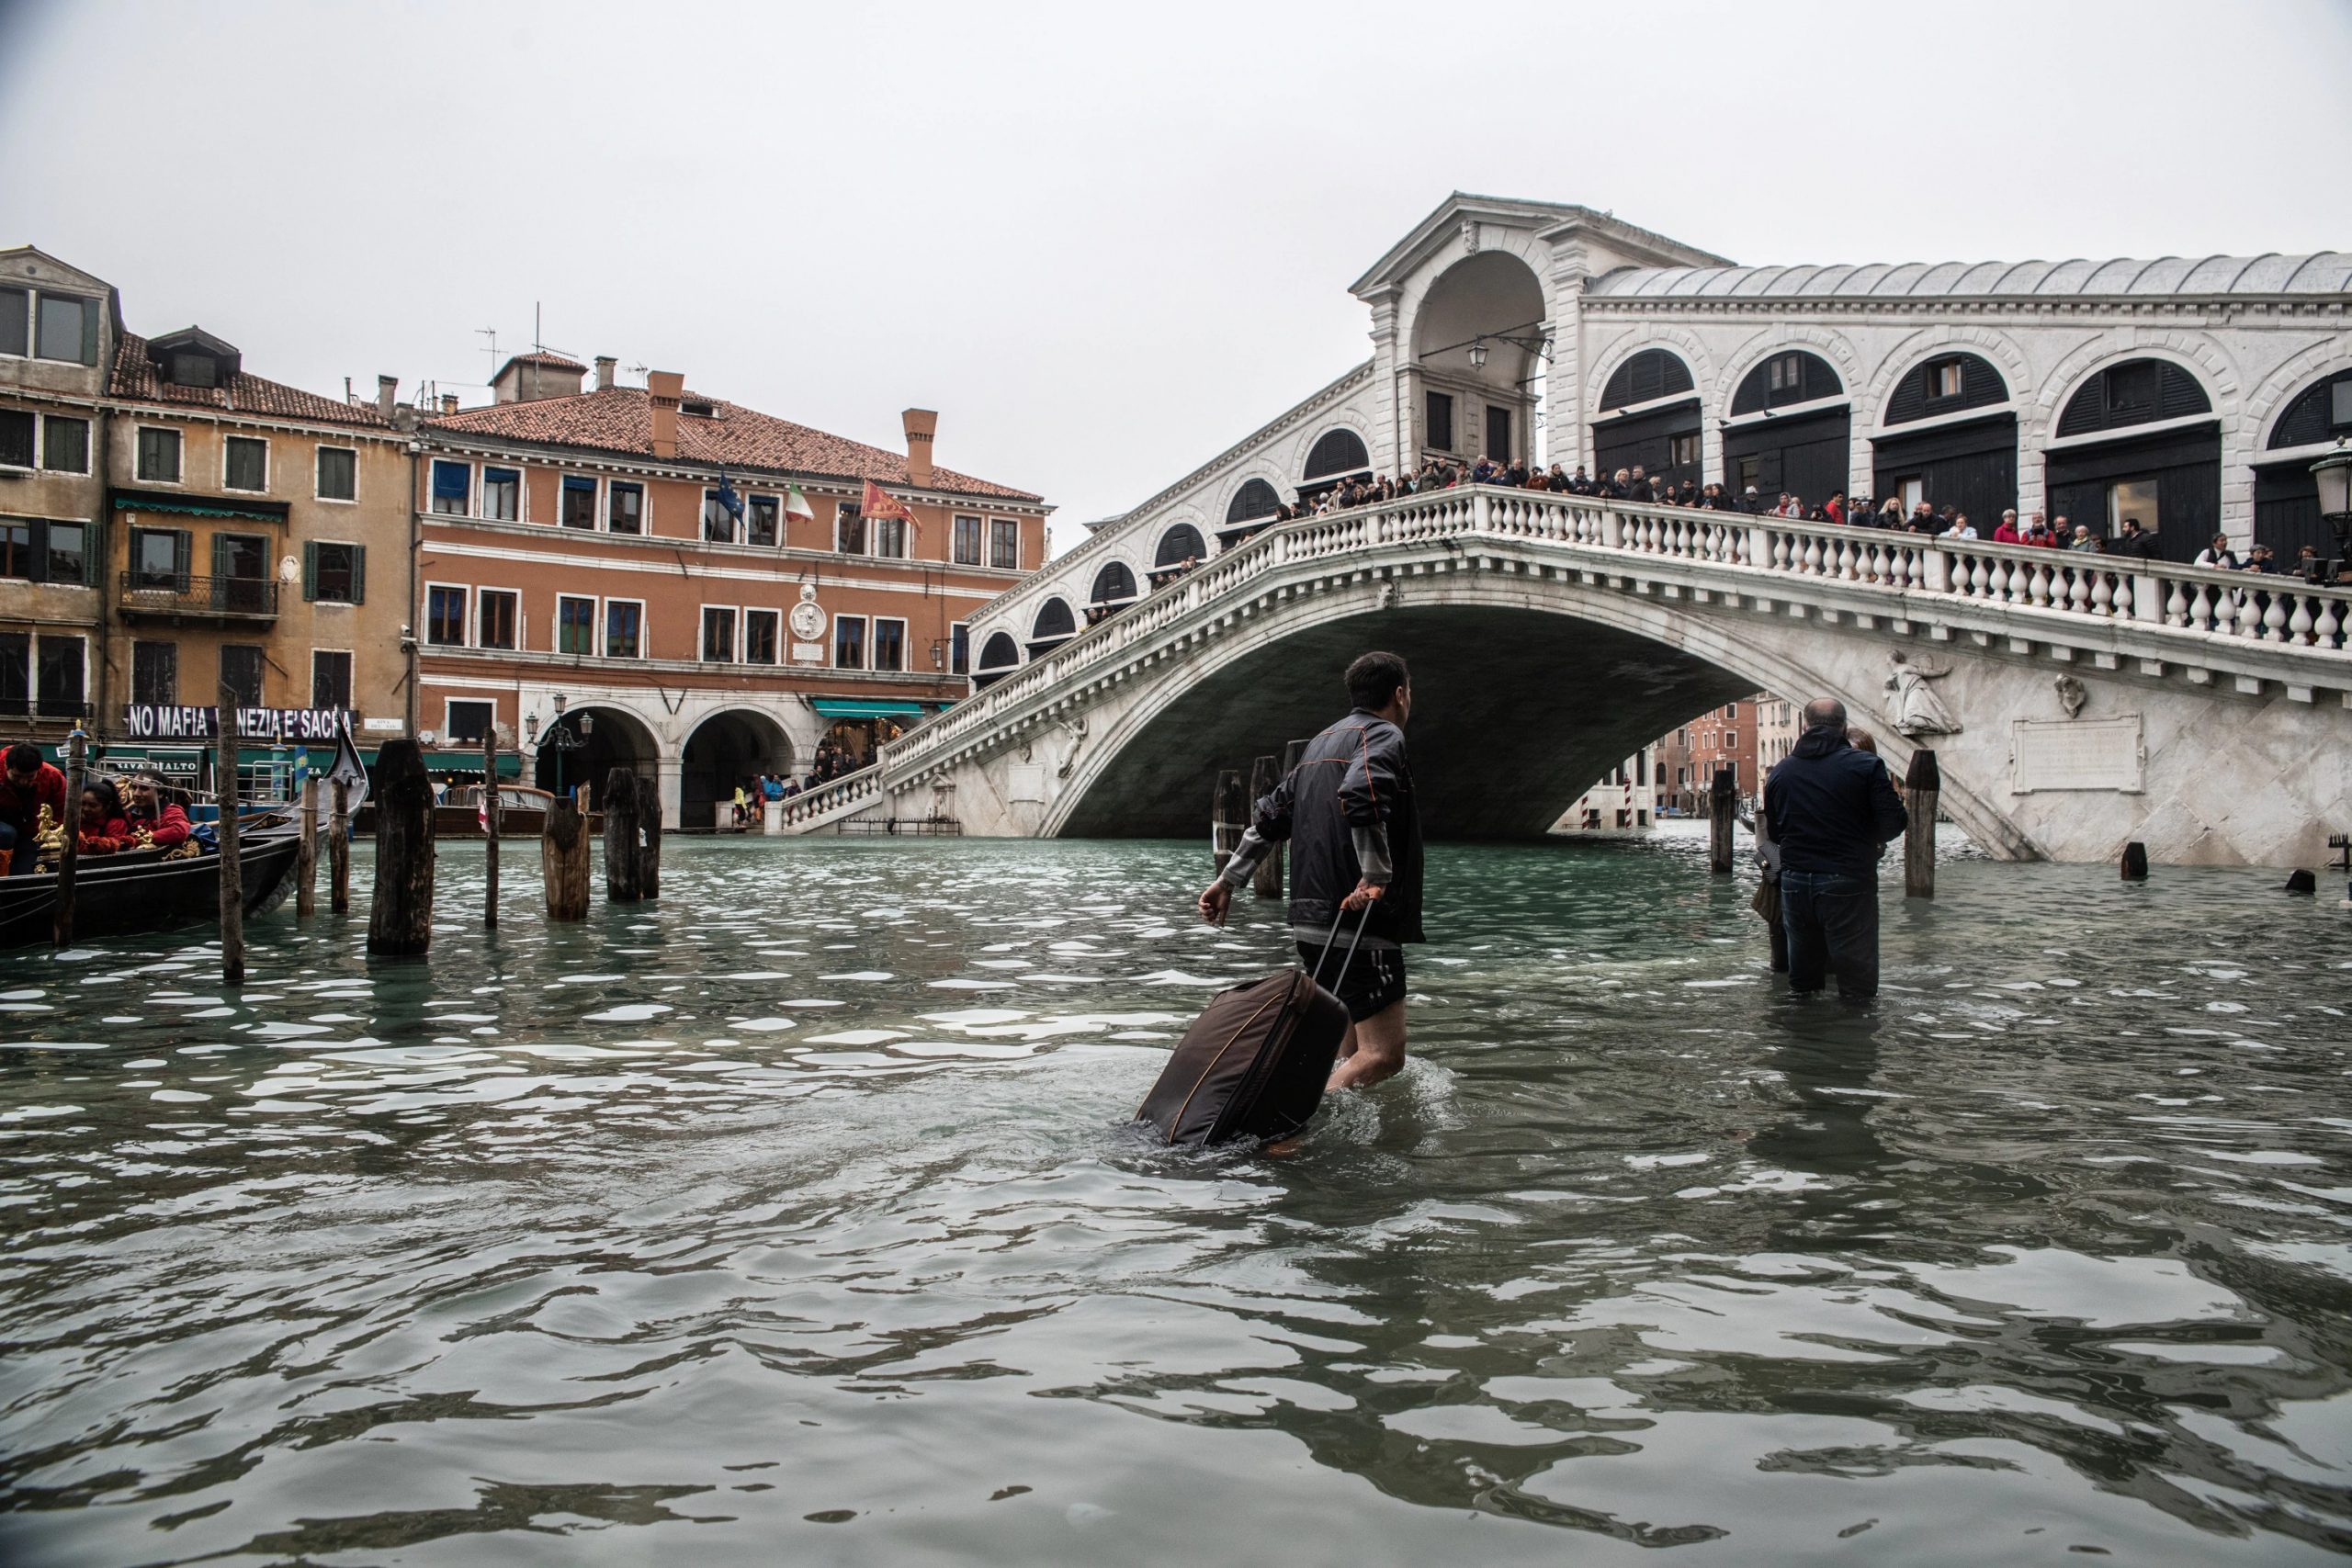
M2164 559L2194 559L2220 529L2220 421L2211 414L2204 386L2171 360L2091 371L2042 454L2051 522L2063 515L2070 529L2114 536L2133 520L2157 536Z

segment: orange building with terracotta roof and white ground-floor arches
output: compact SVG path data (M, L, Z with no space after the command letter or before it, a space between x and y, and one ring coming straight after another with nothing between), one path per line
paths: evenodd
M480 766L496 726L541 788L630 766L670 825L713 827L746 778L807 776L823 743L858 764L964 696L967 616L1044 562L1051 508L936 468L927 409L884 451L548 353L494 395L416 430L435 769Z

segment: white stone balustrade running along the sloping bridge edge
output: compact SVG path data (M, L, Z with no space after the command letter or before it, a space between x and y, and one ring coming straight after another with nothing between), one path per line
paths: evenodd
M1496 487L1456 487L1381 505L1301 517L1211 557L1101 625L1056 646L985 691L887 741L873 766L786 802L786 823L814 823L880 792L896 773L993 729L1037 693L1087 665L1110 665L1124 649L1157 642L1167 628L1247 590L1263 576L1315 559L1385 545L1510 538L1630 557L1733 567L1769 578L1811 578L1882 588L1924 599L1964 599L2067 616L2136 621L2220 642L2272 642L2352 651L2352 588L2310 585L2114 555L2082 555L1985 541L1940 541L1846 524L1748 517L1672 505L1625 505ZM1893 604L1919 616L1924 604Z

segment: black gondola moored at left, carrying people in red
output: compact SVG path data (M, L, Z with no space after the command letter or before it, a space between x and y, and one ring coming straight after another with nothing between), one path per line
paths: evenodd
M270 823L270 825L263 825ZM282 818L256 818L238 835L245 917L268 914L294 891L301 830ZM221 856L205 851L167 860L162 849L80 856L73 867L73 940L143 936L179 924L221 919ZM0 947L52 940L56 872L0 877Z

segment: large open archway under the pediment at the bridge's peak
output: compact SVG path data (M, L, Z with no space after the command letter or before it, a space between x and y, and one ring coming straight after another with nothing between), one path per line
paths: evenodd
M1548 331L1543 282L1524 261L1477 252L1449 266L1414 315L1414 395L1402 409L1411 435L1399 461L1534 463Z

